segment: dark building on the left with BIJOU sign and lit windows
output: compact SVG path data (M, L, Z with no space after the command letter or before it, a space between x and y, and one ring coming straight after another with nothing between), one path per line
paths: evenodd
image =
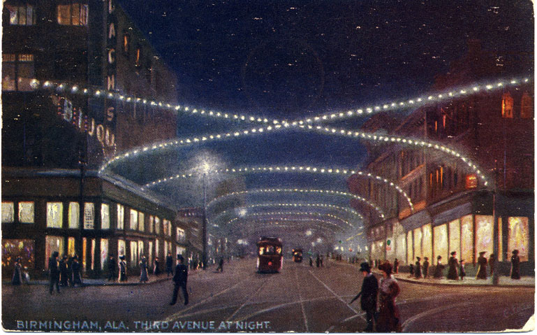
M52 251L78 254L88 276L108 253L137 271L142 255L175 252L174 206L96 173L175 138L159 104L177 100L175 73L114 0L7 0L2 15L3 273L20 256L39 275Z

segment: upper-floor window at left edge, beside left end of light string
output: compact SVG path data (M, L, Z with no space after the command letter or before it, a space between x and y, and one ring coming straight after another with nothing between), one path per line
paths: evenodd
M35 78L34 55L2 55L2 90L31 91Z

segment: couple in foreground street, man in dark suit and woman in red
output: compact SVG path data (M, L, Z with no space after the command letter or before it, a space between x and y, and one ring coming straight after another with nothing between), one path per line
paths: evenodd
M378 264L378 269L383 273L381 283L378 285L378 280L371 272L371 266L368 262L360 264L360 271L364 276L362 282L362 290L354 297L353 301L360 299L360 307L365 311L367 327L365 332L373 332L374 324L376 332L389 333L401 332L401 320L399 308L395 304L395 298L401 292L397 280L392 277L393 266L390 262L385 261ZM376 309L378 295L378 311Z

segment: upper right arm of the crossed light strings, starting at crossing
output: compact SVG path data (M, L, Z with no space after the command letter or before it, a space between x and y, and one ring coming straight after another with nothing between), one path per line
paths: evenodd
M502 89L503 87L508 86L517 86L524 83L528 83L530 78L517 78L511 80L494 80L490 83L485 84L473 84L464 87L460 87L457 90L449 90L445 92L436 92L435 94L424 95L421 97L402 99L400 101L390 101L384 104L378 105L369 105L367 107L362 107L358 109L352 109L348 111L339 111L332 113L325 113L317 115L314 117L307 117L302 120L290 122L293 125L296 124L311 124L314 122L326 122L330 120L343 120L348 117L357 117L357 116L369 116L374 113L380 113L382 111L393 111L395 109L416 108L419 106L424 106L432 102L441 102L450 99L456 99L458 97L467 97L471 94L477 94L479 92L490 92L492 90Z

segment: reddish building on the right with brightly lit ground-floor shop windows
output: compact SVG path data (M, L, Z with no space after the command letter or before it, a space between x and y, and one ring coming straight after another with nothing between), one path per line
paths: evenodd
M511 80L513 69L531 73L527 71L531 66L526 66L531 63L523 58L505 71L507 64L495 62L492 52L471 41L468 54L453 62L448 73L437 76L433 88L444 92L483 80ZM367 144L365 169L393 180L413 206L393 187L358 175L349 178L351 192L365 194L388 214L381 219L353 203L369 222L372 259L398 258L411 264L415 257L428 257L436 264L441 256L446 264L450 252L456 251L459 259L475 264L481 251L490 257L496 240L503 273L508 272L515 249L524 271L533 271L534 85L531 81L494 85L494 90L485 88L422 106L402 122L394 122L387 114L365 122L365 131L446 145L488 178L485 185L461 157L441 150L401 142Z

